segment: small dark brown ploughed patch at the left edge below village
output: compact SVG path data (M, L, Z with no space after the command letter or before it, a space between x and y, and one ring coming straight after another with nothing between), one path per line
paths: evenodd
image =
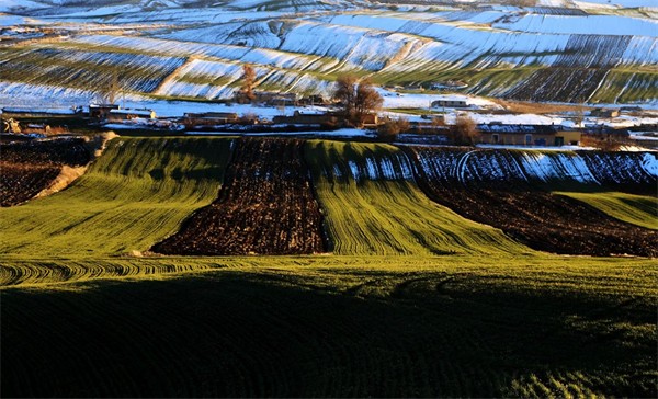
M81 167L91 157L83 139L0 144L0 206L21 204L50 186L64 166Z

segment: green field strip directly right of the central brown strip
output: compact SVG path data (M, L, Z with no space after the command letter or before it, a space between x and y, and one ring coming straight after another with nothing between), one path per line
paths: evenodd
M405 156L393 146L309 141L306 156L337 254L533 253L502 231L431 202L411 181L351 176L349 162L364 171L367 158L388 159L399 170L398 157ZM331 178L334 168L340 178Z

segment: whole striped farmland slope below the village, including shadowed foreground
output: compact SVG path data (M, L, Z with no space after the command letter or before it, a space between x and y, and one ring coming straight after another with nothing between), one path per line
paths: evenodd
M657 162L112 139L0 208L1 394L655 397Z

